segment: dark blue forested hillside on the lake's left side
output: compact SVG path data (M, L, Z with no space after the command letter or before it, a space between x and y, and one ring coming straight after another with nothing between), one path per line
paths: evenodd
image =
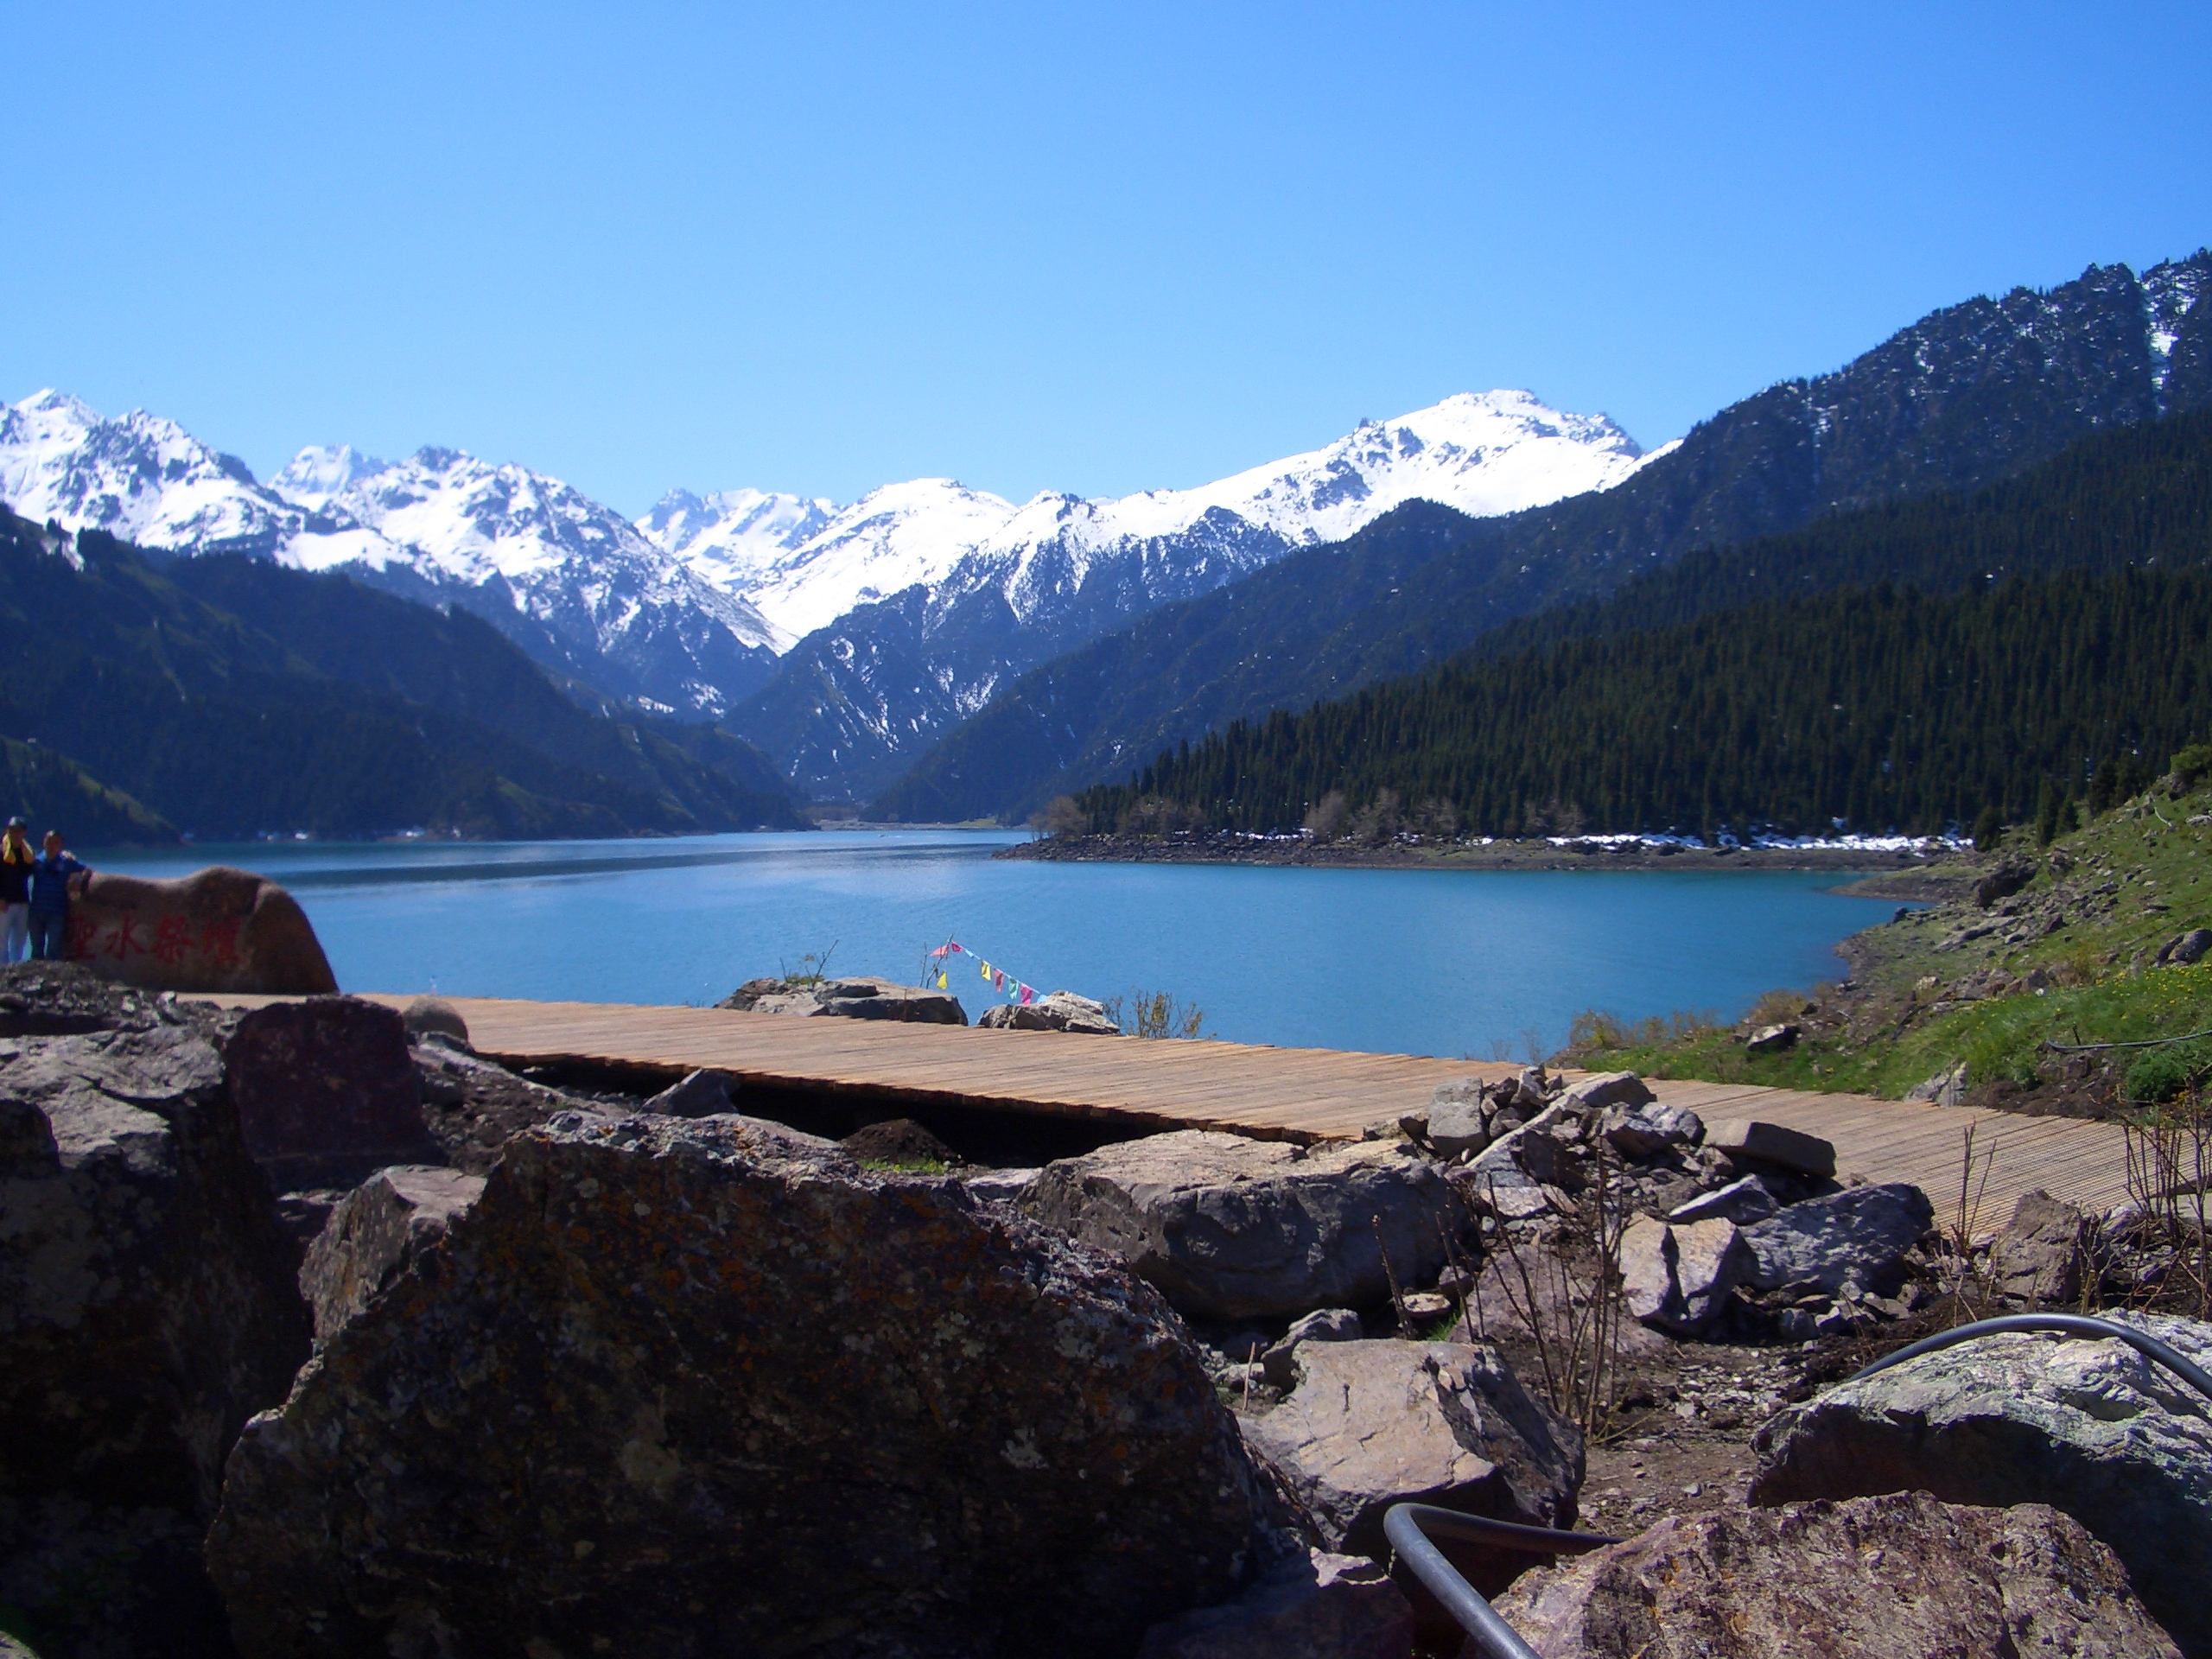
M246 560L164 571L97 531L0 515L0 734L208 838L796 823L734 739L701 759L582 710L484 624L343 577Z

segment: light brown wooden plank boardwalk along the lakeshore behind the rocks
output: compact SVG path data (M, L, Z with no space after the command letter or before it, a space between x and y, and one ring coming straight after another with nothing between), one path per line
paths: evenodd
M378 1000L403 1004L407 998ZM1495 1062L1336 1048L794 1020L723 1009L451 1002L476 1046L511 1062L714 1066L757 1084L854 1093L885 1106L982 1106L1296 1141L1358 1139L1378 1117L1425 1106L1442 1082L1517 1071ZM1911 1181L1933 1199L1944 1223L1958 1212L1969 1128L1980 1194L1969 1223L1975 1230L2002 1225L2013 1201L2031 1188L2090 1210L2128 1197L2126 1141L2117 1124L1734 1084L1652 1079L1652 1091L1708 1121L1765 1117L1820 1135L1836 1144L1843 1172Z

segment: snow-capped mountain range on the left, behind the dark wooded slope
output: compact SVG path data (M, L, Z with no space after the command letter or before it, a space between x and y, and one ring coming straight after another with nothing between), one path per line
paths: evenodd
M71 531L343 568L460 604L608 697L684 712L719 714L792 644L622 513L557 478L451 449L403 462L303 449L261 484L173 420L108 420L40 392L0 409L0 500Z

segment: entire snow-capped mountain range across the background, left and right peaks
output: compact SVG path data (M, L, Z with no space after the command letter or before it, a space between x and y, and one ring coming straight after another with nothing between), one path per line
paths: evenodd
M343 568L471 611L588 692L732 717L830 794L887 783L1006 675L1405 500L1511 511L1639 460L1601 416L1493 392L1197 489L1020 507L942 478L849 507L675 491L630 524L557 478L453 449L303 449L263 484L144 411L108 420L55 392L0 409L0 500L33 520Z

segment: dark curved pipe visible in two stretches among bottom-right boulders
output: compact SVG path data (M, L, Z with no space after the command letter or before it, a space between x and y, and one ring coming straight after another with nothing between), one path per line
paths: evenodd
M1885 1354L1874 1365L1851 1374L1847 1383L1876 1376L1878 1371L1887 1371L1891 1365L1905 1365L1905 1360L1916 1360L1922 1354L1936 1354L1944 1347L1958 1347L1960 1343L1973 1343L1982 1336L2002 1336L2006 1332L2048 1332L2057 1336L2084 1336L2099 1343L2126 1343L2137 1354L2154 1365L2163 1365L2168 1371L2212 1400L2212 1371L2205 1371L2205 1367L2197 1365L2197 1360L2177 1352L2168 1343L2161 1343L2148 1332L2139 1332L2132 1325L2119 1325L2110 1318L2095 1318L2090 1314L2006 1314L2002 1318L1980 1318L1973 1325L1938 1332L1936 1336L1924 1336L1918 1343L1900 1347L1896 1354ZM1522 1526L1520 1522L1462 1515L1455 1509L1438 1509L1436 1504L1391 1504L1389 1513L1383 1515L1383 1535L1398 1553L1398 1559L1405 1562L1416 1579L1420 1579L1422 1588L1427 1588L1429 1595L1444 1606L1444 1613L1449 1613L1467 1632L1473 1650L1482 1655L1482 1659L1542 1659L1542 1655L1520 1639L1520 1632L1498 1615L1498 1608L1489 1604L1489 1597L1460 1575L1460 1568L1444 1559L1444 1553L1436 1546L1433 1537L1449 1537L1462 1544L1486 1544L1489 1548L1520 1551L1524 1555L1582 1555L1586 1551L1621 1542L1604 1533L1557 1533L1548 1526Z

